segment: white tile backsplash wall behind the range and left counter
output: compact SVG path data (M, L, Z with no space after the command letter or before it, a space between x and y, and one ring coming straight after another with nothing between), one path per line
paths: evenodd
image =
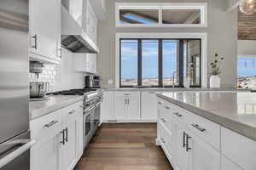
M84 73L75 72L73 69L73 55L62 48L60 65L45 65L43 72L37 77L30 73L30 82L49 82L49 91L84 88Z

